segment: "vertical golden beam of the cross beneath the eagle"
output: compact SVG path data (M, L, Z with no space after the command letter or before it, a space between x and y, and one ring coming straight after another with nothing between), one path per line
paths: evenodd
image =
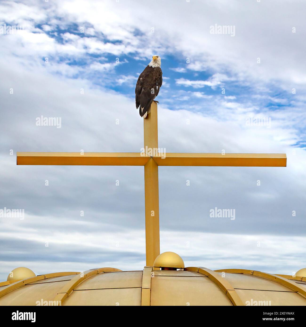
M143 120L144 148L157 149L157 104L151 105L151 112ZM159 202L158 166L151 158L145 164L145 216L146 216L146 266L153 266L159 249Z

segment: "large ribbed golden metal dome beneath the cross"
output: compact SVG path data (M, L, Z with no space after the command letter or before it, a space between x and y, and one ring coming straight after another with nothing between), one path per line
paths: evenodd
M121 271L104 267L0 282L0 306L305 306L303 282L305 277L246 269L153 270L146 266L143 270Z

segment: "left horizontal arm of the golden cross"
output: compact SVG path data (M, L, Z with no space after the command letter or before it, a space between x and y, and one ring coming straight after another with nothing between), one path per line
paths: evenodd
M138 152L17 152L18 165L144 166L150 158Z

